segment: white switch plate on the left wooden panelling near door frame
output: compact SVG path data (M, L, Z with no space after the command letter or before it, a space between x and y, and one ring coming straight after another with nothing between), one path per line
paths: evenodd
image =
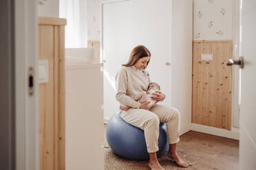
M39 60L39 83L49 82L49 61Z

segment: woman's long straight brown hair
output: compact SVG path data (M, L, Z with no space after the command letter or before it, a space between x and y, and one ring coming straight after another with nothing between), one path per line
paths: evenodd
M140 60L140 58L150 57L150 56L151 56L151 53L149 49L147 49L144 45L138 45L137 47L134 47L134 49L131 51L128 62L126 64L122 64L122 66L132 66L138 60ZM148 64L149 64L149 61L147 62L147 65Z

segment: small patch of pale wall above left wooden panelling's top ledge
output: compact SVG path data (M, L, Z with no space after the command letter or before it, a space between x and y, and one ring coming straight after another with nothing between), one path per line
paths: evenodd
M37 1L37 0L36 0ZM38 5L38 16L58 17L58 0L41 1Z

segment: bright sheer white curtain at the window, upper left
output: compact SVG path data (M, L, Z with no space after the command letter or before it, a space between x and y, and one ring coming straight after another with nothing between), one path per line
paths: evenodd
M59 16L67 19L65 47L87 47L87 0L59 0Z

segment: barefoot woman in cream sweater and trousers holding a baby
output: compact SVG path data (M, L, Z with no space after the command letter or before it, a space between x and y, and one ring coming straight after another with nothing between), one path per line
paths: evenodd
M174 160L180 167L188 167L176 152L176 143L180 141L179 119L180 112L176 108L169 108L156 104L149 108L149 101L140 104L133 98L137 93L147 91L151 82L149 74L145 69L149 64L151 53L139 45L131 51L127 64L122 64L122 69L116 75L116 99L120 104L129 106L129 110L122 111L120 116L127 123L144 130L147 151L149 152L149 167L152 170L163 170L158 162L156 151L158 151L159 123L167 123L167 134L169 139L169 151L167 157ZM154 93L153 100L163 101L165 95L158 91Z

